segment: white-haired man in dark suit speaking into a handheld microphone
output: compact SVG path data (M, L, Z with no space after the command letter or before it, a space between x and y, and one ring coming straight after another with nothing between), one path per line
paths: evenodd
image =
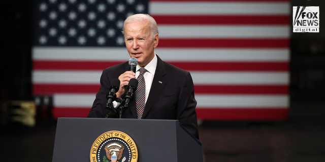
M101 76L101 88L88 117L118 117L114 107L106 107L106 95L113 78L120 80L118 99L123 98L128 82L138 78L135 100L123 111L122 118L177 119L199 139L193 81L188 71L162 61L154 53L158 45L158 28L155 20L146 14L129 16L124 21L123 33L130 57L138 59L137 71L129 71L128 62L108 67ZM140 73L144 70L144 74ZM141 93L142 91L142 93ZM141 108L143 105L143 108Z

